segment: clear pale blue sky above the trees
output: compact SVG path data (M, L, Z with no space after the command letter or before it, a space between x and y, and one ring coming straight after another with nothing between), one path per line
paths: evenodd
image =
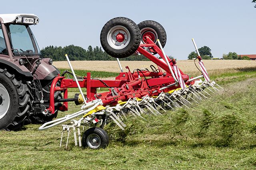
M167 55L186 59L194 46L212 49L214 57L229 51L256 54L256 8L252 0L8 0L1 13L33 13L32 31L40 48L70 44L100 46L103 25L117 16L139 23L155 20L167 32ZM157 4L156 4L157 2Z

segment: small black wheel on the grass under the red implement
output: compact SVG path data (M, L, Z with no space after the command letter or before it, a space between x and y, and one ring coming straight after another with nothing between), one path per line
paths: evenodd
M106 148L108 143L108 133L100 127L91 127L84 132L82 137L83 147L89 147L90 149Z

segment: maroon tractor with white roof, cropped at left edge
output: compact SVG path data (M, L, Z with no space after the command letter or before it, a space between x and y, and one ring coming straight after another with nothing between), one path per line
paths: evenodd
M30 26L37 25L34 14L0 14L0 129L17 130L24 123L45 123L57 116L44 112L40 104L50 96L52 80L60 71L52 59L40 58L40 49ZM56 100L61 93L54 94ZM37 102L37 104L35 104Z

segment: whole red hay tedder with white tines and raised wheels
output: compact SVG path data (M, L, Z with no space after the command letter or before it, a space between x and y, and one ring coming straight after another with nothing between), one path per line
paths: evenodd
M40 103L49 104L44 111L47 114L54 114L54 106L60 102L63 103L59 108L68 110L68 101L74 101L77 105L82 104L81 110L44 123L39 130L70 121L71 124L62 125L60 146L64 132L68 131L69 137L70 131L73 130L75 145L92 149L104 148L109 143L108 134L103 130L104 125L109 122L106 120L114 121L124 130L126 125L123 120L127 119L127 114L146 120L144 115L162 115L166 108L175 110L179 107L189 107L192 102L198 103L210 96L210 92L219 91L216 88L218 84L208 76L194 39L192 41L198 53L197 59L202 75L193 78L184 74L178 68L175 59L169 59L164 53L166 38L166 31L156 21L142 21L138 25L124 17L108 21L100 33L100 42L106 53L117 58L120 74L115 80L92 78L90 72L87 72L84 77L77 77L66 55L72 72L65 71L56 76L51 84L50 100L43 100ZM159 56L156 57L156 54ZM157 68L151 65L152 71L147 68L131 71L126 66L128 71L123 72L118 58L130 55L144 55L154 62ZM74 79L66 78L66 74L72 74ZM79 88L80 94L68 99L68 88ZM81 88L86 88L86 95ZM97 88L109 90L98 93ZM56 92L63 92L63 99L56 100L54 98ZM76 120L75 117L80 119ZM82 141L81 124L92 126L84 132ZM78 143L76 131L78 131ZM66 147L67 144L68 138Z

